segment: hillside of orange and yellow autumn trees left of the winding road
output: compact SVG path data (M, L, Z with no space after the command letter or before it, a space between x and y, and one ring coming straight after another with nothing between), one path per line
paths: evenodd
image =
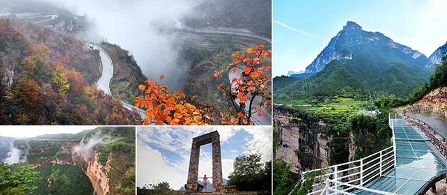
M98 52L74 36L0 20L0 123L133 124L136 114L96 89Z

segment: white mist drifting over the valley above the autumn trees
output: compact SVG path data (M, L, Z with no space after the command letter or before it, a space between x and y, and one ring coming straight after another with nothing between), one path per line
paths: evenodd
M148 77L165 75L170 89L182 86L189 62L179 55L182 41L174 26L200 1L191 0L41 0L63 5L73 13L87 15L91 31L84 36L98 42L105 38L128 49ZM174 71L175 70L175 71Z

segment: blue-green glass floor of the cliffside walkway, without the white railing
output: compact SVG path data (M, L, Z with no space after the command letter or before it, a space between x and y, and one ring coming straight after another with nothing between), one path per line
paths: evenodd
M423 132L402 118L390 118L395 137L395 168L365 185L395 194L416 194L430 179L446 173L446 165L427 145ZM372 194L359 191L354 194Z

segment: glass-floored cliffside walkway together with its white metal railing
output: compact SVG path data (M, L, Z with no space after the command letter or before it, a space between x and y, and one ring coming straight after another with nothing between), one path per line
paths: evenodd
M393 146L356 161L303 172L298 184L318 171L322 174L314 178L312 192L307 194L407 195L421 193L433 181L445 178L446 164L421 130L398 116L390 117L389 125Z

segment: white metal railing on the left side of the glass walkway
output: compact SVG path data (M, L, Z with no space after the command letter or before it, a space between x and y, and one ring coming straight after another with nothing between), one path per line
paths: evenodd
M394 148L395 146L390 146L352 162L302 172L304 179L300 180L300 182L304 182L307 179L314 180L312 192L308 194L321 194L329 191L350 194L358 189L363 189L367 183L381 177L383 173L395 167ZM323 173L315 178L305 178L307 174L316 171L322 171Z

